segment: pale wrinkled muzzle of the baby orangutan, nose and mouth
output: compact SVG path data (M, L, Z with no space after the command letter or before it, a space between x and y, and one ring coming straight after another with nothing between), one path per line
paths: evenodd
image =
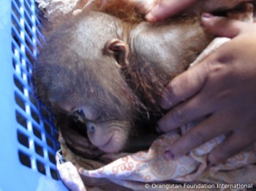
M127 133L125 128L120 128L119 122L86 122L87 135L91 144L104 152L120 152L127 142Z

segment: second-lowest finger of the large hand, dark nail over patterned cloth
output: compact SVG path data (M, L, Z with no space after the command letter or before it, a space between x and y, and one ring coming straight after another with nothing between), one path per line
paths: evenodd
M222 118L221 114L212 114L202 120L198 125L185 133L184 136L170 144L165 152L165 158L173 159L174 157L185 155L192 149L225 133L227 122L223 122Z

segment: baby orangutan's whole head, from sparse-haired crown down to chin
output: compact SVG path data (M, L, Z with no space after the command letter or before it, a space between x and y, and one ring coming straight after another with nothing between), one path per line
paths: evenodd
M104 152L120 152L132 132L139 101L121 75L116 58L110 55L119 51L118 42L107 43L117 38L120 25L121 21L116 23L113 17L97 12L67 22L48 36L34 67L39 98L56 115L62 112L86 125L70 136L67 131L75 125L66 132L59 126L65 140L72 137L69 146L75 149L82 145L79 139L83 136ZM104 47L113 51L105 53ZM83 152L83 148L79 150Z

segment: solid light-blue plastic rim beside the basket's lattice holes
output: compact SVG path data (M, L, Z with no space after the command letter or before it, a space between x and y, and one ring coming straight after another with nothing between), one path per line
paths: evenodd
M20 163L12 66L11 1L0 1L0 191L67 190L61 181Z

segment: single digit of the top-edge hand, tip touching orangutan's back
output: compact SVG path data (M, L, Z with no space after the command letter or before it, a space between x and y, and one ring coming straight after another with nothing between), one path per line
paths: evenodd
M197 0L160 0L159 3L148 12L146 20L149 22L163 20L189 7L189 5L195 1Z

